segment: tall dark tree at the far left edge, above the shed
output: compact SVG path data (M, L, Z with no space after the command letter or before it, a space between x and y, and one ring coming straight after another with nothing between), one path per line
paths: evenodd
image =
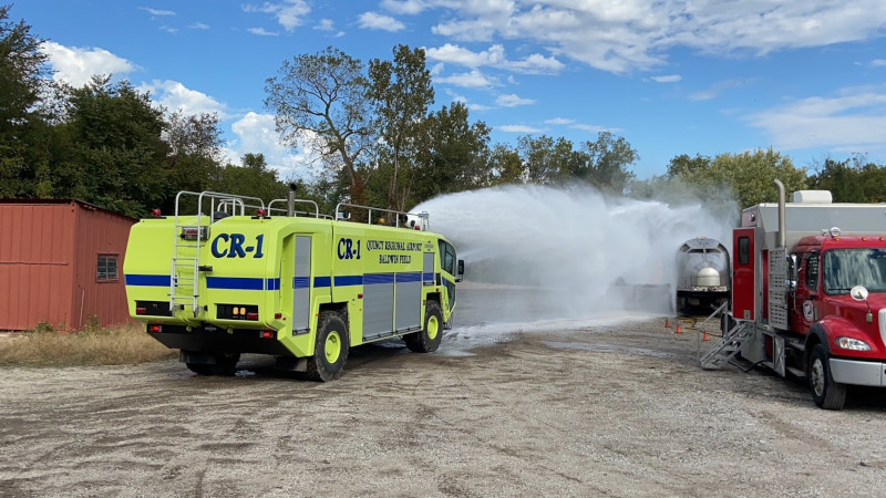
M48 55L30 25L9 20L11 8L0 7L0 197L34 195L35 166L48 162L29 157L45 138L34 127L45 131L37 104L47 84Z

